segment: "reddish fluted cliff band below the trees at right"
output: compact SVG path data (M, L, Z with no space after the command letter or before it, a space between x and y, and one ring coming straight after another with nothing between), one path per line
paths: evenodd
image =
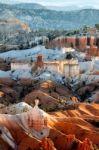
M90 49L90 51L94 52L93 49L99 49L99 38L94 36L71 36L71 37L58 37L52 41L49 41L45 44L47 48L63 48L63 47L73 47L79 51L86 51Z

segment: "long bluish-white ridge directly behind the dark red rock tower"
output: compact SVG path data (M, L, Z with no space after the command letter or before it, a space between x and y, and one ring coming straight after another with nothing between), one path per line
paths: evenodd
M27 50L12 50L9 52L4 52L0 54L0 58L4 58L5 60L32 58L35 60L37 54L43 54L45 60L57 59L62 55L61 51L59 50L46 49L44 46L37 46Z

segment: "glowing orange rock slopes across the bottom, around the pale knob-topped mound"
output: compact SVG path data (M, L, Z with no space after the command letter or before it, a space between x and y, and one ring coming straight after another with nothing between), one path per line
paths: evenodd
M42 110L39 109L39 111L42 114ZM47 124L45 123L45 125L50 127L50 132L47 135L48 138L43 140L35 138L34 133L29 134L31 133L31 127L36 127L35 130L38 131L42 128L42 125L35 126L35 121L33 124L33 115L31 114L33 114L32 111L15 116L0 115L0 126L7 129L10 140L13 141L18 150L38 150L40 148L43 148L43 150L93 150L94 144L99 146L98 127L90 121L90 119L99 121L97 104L80 104L78 110L54 112L50 115L45 113L47 117L47 122L45 121ZM2 133L4 134L4 129ZM9 150L11 144L7 143L5 137L2 138L2 133L0 132L0 147Z

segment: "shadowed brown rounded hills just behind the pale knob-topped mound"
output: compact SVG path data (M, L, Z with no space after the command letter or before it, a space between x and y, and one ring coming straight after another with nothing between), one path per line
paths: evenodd
M71 89L66 86L51 80L39 82L24 78L17 82L9 78L1 78L0 86L0 103L6 106L22 101L34 106L35 99L38 98L40 108L51 112L75 109L74 104L79 103L77 95L81 101L86 101L87 98L89 100L91 97L92 100L90 100L90 102L98 102L98 80L92 81L87 85L84 85L82 82L79 83L76 86L75 93L72 93ZM14 112L13 109L14 107L12 107L12 112ZM8 110L11 110L11 108ZM8 110L5 108L4 113L8 113ZM0 113L2 113L2 110L0 110Z

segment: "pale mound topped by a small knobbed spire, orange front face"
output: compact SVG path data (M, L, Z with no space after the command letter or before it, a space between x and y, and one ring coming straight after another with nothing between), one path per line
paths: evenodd
M19 120L19 125L32 136L37 139L42 139L49 135L49 128L47 127L48 115L41 109L38 108L38 101L36 101L35 107L21 115L16 116Z

